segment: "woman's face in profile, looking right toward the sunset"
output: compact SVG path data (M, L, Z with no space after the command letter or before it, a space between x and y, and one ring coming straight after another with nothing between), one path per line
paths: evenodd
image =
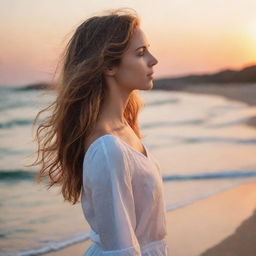
M149 43L140 27L137 27L121 64L115 67L118 86L131 90L149 90L153 87L153 66L157 59L148 50ZM151 74L151 75L149 75Z

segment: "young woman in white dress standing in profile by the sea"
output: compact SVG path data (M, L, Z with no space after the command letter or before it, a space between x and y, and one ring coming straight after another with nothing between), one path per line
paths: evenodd
M36 133L39 178L81 196L93 241L86 256L167 256L163 184L141 143L137 90L153 86L157 59L132 9L84 21L65 50L56 100Z

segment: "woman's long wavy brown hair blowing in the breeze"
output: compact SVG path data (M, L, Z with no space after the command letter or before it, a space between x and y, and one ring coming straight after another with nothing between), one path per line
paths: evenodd
M37 180L49 178L48 188L61 186L64 200L79 201L82 189L84 142L96 126L107 91L103 70L119 65L140 21L131 8L108 10L80 24L63 55L57 97L39 116L50 111L36 129ZM144 101L132 91L124 117L139 138L138 112Z

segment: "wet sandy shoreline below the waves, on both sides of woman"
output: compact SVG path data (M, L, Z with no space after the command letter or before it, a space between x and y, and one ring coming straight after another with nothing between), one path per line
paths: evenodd
M254 179L168 212L170 256L256 255L255 209ZM89 245L83 242L47 255L83 255Z

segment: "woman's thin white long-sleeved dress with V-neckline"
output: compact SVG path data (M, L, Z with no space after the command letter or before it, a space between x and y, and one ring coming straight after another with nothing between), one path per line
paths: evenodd
M168 256L160 167L144 149L111 134L89 146L81 204L93 243L84 256Z

